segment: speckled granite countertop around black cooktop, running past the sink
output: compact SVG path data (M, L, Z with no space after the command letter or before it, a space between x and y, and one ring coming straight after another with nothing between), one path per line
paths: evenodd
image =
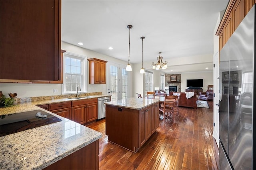
M96 95L98 98L108 95ZM90 99L90 98L89 98ZM56 99L0 108L0 115L43 110L40 104L79 99ZM102 133L46 111L62 121L0 137L0 169L42 169L100 139Z

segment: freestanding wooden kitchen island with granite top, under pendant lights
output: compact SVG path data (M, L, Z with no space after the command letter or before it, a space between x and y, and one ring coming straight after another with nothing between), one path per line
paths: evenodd
M132 152L159 127L159 100L127 98L106 102L108 141Z

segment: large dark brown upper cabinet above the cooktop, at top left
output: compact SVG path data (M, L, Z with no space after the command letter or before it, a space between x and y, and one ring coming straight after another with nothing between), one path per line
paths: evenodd
M61 1L0 1L0 82L62 83Z

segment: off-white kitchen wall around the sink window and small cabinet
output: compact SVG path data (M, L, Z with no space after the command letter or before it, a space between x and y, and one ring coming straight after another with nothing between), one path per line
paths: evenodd
M62 42L61 49L66 50L70 53L75 53L78 55L86 56L88 59L97 58L105 61L111 61L113 63L124 64L127 65L127 61L122 61L119 59L115 59L113 57L103 55L100 53L96 53L94 51L90 51L88 49L84 49L75 45L71 45L69 43ZM131 64L132 65L132 64ZM133 67L133 65L132 65ZM88 68L89 70L89 68ZM87 70L87 82L89 82ZM130 76L130 80L133 80L132 72L128 72ZM129 96L133 96L133 84L132 81L128 82L130 86ZM58 89L58 93L53 93L53 89ZM26 97L36 97L36 96L55 96L62 94L62 84L23 84L23 83L0 83L0 91L4 93L5 96L8 96L8 93L17 93L18 98L26 98ZM87 83L87 91L88 92L102 92L102 94L107 93L106 84L88 84Z

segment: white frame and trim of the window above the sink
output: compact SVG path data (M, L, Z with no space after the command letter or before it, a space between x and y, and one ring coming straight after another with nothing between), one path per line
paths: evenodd
M81 91L80 92L87 92L87 86L86 86L86 82L87 82L87 76L86 76L86 70L88 68L87 66L87 57L83 56L83 55L78 55L75 53L70 53L68 51L66 51L64 53L63 56L63 84L62 84L62 94L76 94L77 91L66 91L66 57L71 57L71 58L75 58L75 59L81 59Z

